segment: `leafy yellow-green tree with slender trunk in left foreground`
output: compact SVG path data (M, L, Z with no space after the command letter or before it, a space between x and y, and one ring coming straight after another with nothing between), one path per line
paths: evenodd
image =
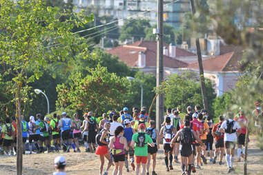
M28 101L28 83L43 74L40 68L57 60L70 59L70 52L86 52L83 39L72 34L74 19L60 21L59 8L46 7L42 1L0 1L0 64L10 76L17 118L17 174L22 174L21 104ZM91 21L90 17L85 18ZM79 24L81 25L81 24ZM26 70L32 67L34 74Z

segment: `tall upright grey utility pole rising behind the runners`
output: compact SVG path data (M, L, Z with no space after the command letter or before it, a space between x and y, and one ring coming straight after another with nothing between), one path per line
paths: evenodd
M156 87L161 85L164 79L164 49L163 49L163 12L164 1L158 0L157 2L157 65L156 65ZM164 115L164 95L157 95L156 99L156 128L160 130L162 123L162 116Z

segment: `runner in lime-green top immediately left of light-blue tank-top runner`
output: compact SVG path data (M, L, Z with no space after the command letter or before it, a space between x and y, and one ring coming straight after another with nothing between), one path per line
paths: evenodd
M56 152L59 152L59 146L61 141L60 129L59 129L59 116L53 114L53 119L50 121L50 127L52 130L53 144L55 145Z

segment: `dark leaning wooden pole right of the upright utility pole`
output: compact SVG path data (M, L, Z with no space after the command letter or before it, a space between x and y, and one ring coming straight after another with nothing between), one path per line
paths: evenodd
M191 9L193 16L195 15L195 4L193 0L191 1ZM203 99L203 104L204 104L204 109L208 111L208 101L207 101L207 96L206 96L206 84L204 83L204 68L203 68L203 63L202 63L202 54L201 54L201 49L200 49L200 43L199 43L199 38L195 39L195 45L196 45L196 50L197 50L197 56L198 56L198 65L199 65L199 76L200 76L200 83L201 83L201 92L202 92L202 99Z

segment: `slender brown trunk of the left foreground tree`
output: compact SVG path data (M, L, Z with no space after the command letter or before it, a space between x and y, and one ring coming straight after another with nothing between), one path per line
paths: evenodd
M16 97L16 119L17 119L17 175L22 175L23 171L23 141L21 126L21 101L20 101L21 83L17 85Z

